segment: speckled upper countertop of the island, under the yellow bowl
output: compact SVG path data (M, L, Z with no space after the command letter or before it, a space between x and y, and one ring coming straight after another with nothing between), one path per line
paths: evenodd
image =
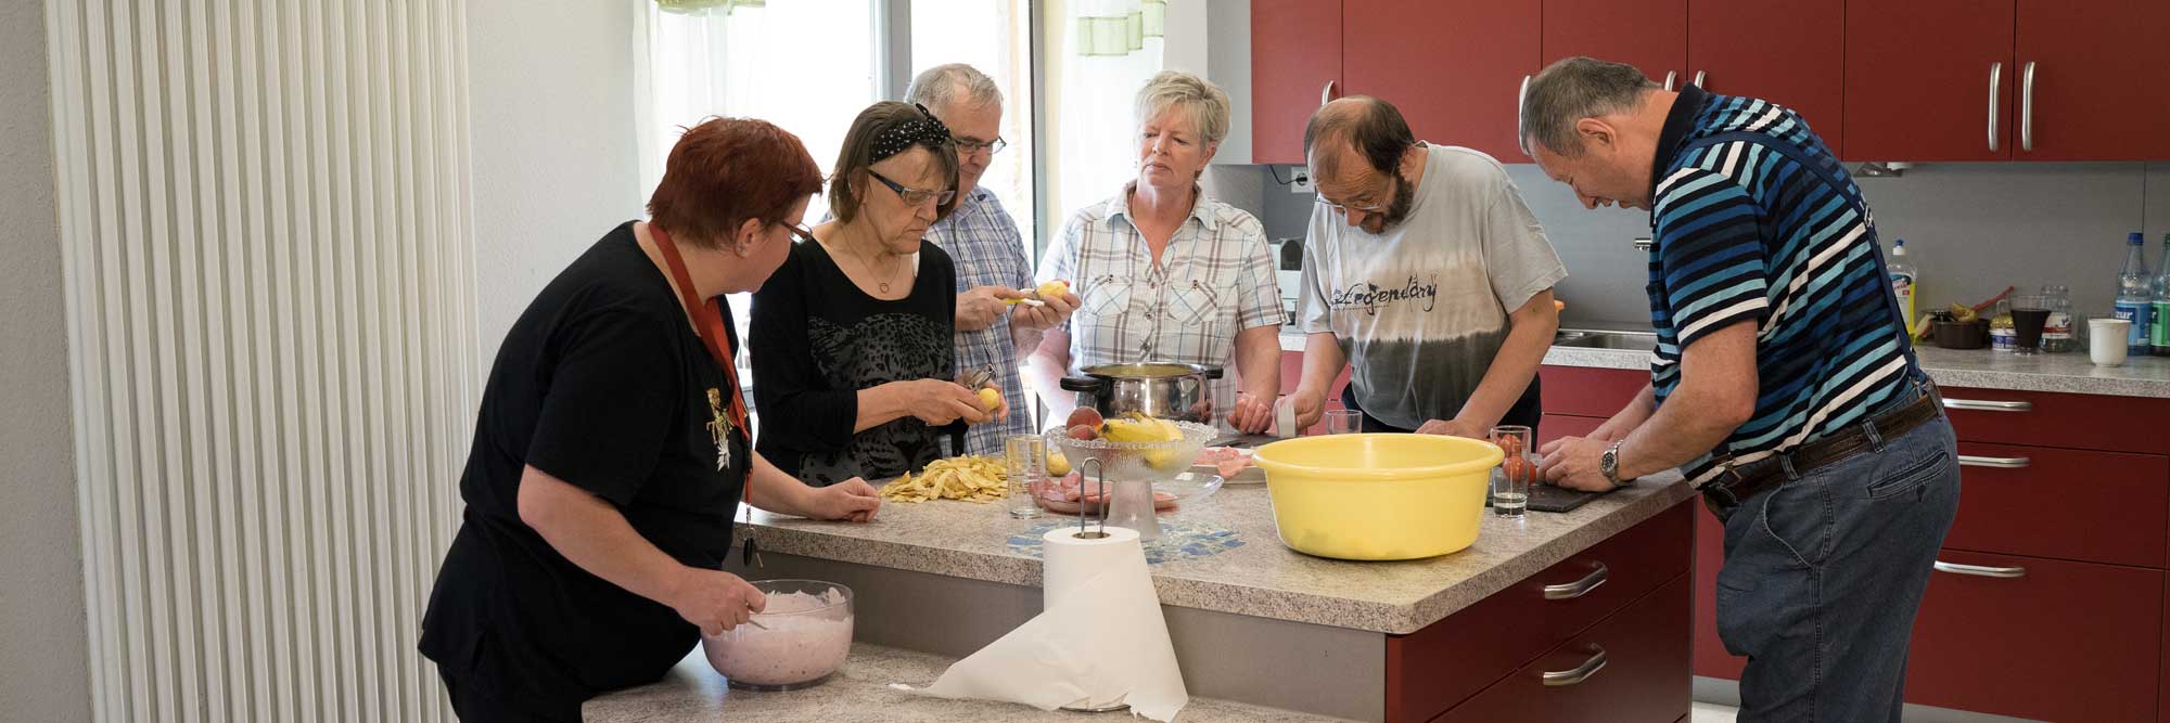
M1478 600L1671 509L1695 491L1677 472L1591 500L1571 513L1521 520L1484 513L1467 550L1402 563L1352 563L1289 550L1274 533L1265 485L1226 485L1167 520L1233 528L1243 545L1152 565L1161 604L1369 632L1417 632ZM1048 517L1074 520L1074 517ZM870 524L753 513L762 550L1039 587L1039 561L1009 537L1046 520L1009 520L1005 504L890 502Z

